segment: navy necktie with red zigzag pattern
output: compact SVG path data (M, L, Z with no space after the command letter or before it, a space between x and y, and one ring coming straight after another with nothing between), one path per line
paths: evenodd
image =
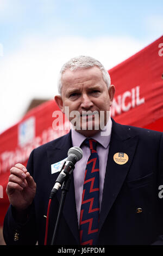
M99 219L99 159L97 141L86 139L91 155L87 160L80 211L80 245L96 245Z

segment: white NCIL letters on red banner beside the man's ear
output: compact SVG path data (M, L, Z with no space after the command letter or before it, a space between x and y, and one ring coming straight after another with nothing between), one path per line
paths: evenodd
M126 103L127 98L128 103ZM118 95L117 98L113 100L111 116L120 115L123 111L127 112L131 108L135 108L143 103L145 103L145 98L140 99L140 86L136 86L130 91L126 91L122 95Z

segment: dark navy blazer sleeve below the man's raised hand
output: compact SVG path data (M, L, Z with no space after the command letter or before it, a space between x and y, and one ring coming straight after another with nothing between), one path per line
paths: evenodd
M27 170L33 176L33 154L29 156ZM7 245L35 245L37 242L35 206L34 201L28 207L28 218L24 223L16 222L14 218L14 207L9 206L3 223L3 236Z

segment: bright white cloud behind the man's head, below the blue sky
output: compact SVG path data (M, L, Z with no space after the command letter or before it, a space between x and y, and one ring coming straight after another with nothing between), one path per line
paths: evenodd
M0 132L22 117L31 99L52 99L58 93L58 73L68 59L89 55L108 70L146 46L128 37L26 37L21 45L12 55L0 57Z

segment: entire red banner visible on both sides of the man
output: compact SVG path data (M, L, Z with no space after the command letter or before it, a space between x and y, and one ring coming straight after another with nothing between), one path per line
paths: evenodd
M109 74L116 87L111 108L114 120L163 132L163 37L109 70ZM9 205L5 189L11 166L26 165L33 148L66 134L70 128L63 119L60 126L64 129L53 129L57 110L54 101L43 103L0 135L0 225Z

